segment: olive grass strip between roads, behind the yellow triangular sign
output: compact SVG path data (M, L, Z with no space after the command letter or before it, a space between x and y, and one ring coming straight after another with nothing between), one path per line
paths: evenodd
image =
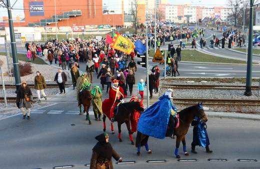
M150 50L149 56L153 57L153 55L154 55L154 50ZM197 50L181 50L181 61L246 64L246 61L217 57L217 56L201 53Z

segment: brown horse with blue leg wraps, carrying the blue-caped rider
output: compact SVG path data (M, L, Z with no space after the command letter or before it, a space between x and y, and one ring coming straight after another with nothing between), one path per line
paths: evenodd
M183 145L183 152L185 156L188 156L189 154L186 151L186 141L185 141L185 135L188 132L188 128L194 119L195 116L197 116L200 120L203 120L204 122L207 122L207 117L205 115L204 109L201 104L193 105L188 108L185 108L177 113L179 116L179 126L178 128L174 129L174 135L176 138L176 148L175 148L175 156L177 159L180 158L178 155L178 148L180 141ZM151 154L152 152L148 148L148 138L149 136L142 134L141 132L137 131L136 135L136 141L135 141L135 147L137 147L137 156L140 156L140 147L145 146L146 151L148 151L148 154Z

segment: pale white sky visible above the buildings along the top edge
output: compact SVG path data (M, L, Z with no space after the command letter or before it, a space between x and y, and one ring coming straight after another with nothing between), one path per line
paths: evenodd
M11 6L14 4L16 0L10 0ZM124 0L124 4L129 4L131 0ZM213 7L213 6L226 6L227 0L168 0L169 4L187 4L196 6L205 6L205 7ZM124 10L129 5L124 5ZM24 15L23 12L23 0L17 0L12 9L12 16L16 15ZM0 7L0 16L7 16L7 9Z

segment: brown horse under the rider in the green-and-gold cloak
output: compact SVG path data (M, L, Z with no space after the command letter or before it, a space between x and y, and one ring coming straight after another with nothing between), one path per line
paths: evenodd
M92 94L91 92L87 91L87 90L82 90L79 93L78 99L80 101L80 106L79 106L79 115L82 115L86 112L86 121L88 120L88 124L91 125L90 122L90 118L89 118L89 114L88 114L88 110L90 108L91 105L91 100L92 100ZM83 113L81 113L81 104L83 105L84 109L83 109Z

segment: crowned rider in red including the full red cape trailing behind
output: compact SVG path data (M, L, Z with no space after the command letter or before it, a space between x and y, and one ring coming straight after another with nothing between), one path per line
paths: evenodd
M109 90L109 98L102 103L103 113L110 115L111 122L114 122L114 107L119 102L123 102L123 89L118 86L118 80L112 81L112 87ZM108 117L109 118L109 117Z

